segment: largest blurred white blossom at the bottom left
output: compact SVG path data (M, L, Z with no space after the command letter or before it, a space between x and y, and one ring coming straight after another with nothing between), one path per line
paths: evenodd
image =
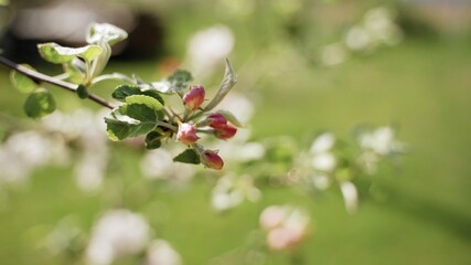
M148 244L150 233L140 214L110 210L94 225L86 250L87 264L107 265L120 256L138 254Z

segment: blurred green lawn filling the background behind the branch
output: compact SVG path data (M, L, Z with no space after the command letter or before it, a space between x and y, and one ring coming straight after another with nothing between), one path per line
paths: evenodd
M190 32L188 28L174 25L171 42L183 42L185 34L179 30ZM236 46L235 65L249 51L244 43ZM154 62L111 65L143 77L152 77L154 68ZM239 246L247 232L258 227L258 214L266 205L285 202L312 213L314 231L301 250L306 264L471 264L471 41L410 38L339 67L307 66L287 70L282 76L266 75L254 87L256 92L246 93L257 95L255 138L303 139L322 129L347 138L357 124L397 123L409 153L400 171L384 169L374 179L383 199L361 193L360 211L353 215L345 212L336 190L312 200L265 188L260 202L216 214L208 204L211 186L203 180L173 193L157 187L157 202L139 210L150 214L156 236L171 242L185 264L206 264ZM24 116L24 96L10 87L4 68L0 92L0 109ZM61 105L84 104L66 93L54 93L64 100ZM120 155L128 159L120 167L121 176L140 178L138 155ZM26 187L8 191L0 211L0 264L67 264L51 258L39 240L67 214L89 227L107 205L79 192L71 171L46 167ZM267 264L288 264L288 259L274 254Z

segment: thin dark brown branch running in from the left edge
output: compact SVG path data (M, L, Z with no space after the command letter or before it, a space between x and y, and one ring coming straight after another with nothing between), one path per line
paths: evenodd
M12 61L10 61L10 60L1 56L1 55L0 55L0 64L3 64L4 66L7 66L9 68L15 70L15 71L18 71L18 72L20 72L20 73L22 73L22 74L31 77L32 80L34 80L36 82L45 82L45 83L55 85L57 87L64 88L66 91L69 91L72 93L76 93L77 92L77 85L75 85L75 84L72 84L72 83L68 83L68 82L65 82L65 81L62 81L62 80L57 80L57 78L54 78L52 76L39 73L39 72L30 70L30 68L26 68L26 67L24 67L22 65L19 65L17 63L14 63L14 62L12 62ZM88 95L88 99L90 99L92 102L97 103L98 105L107 107L109 109L114 109L115 108L106 99L104 99L104 98L101 98L101 97L99 97L97 95L89 94Z

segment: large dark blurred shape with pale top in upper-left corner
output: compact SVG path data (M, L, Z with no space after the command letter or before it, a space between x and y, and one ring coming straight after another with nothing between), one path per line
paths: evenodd
M36 44L57 42L67 46L85 45L85 33L92 22L115 24L129 33L128 40L114 46L120 59L139 60L162 55L163 26L157 15L133 12L111 1L43 1L43 4L13 7L0 46L15 60L40 59Z

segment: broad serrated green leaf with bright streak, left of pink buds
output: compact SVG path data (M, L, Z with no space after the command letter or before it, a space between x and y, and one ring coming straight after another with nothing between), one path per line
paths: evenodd
M105 123L108 137L117 141L152 131L157 118L158 113L143 104L125 104L113 110Z

